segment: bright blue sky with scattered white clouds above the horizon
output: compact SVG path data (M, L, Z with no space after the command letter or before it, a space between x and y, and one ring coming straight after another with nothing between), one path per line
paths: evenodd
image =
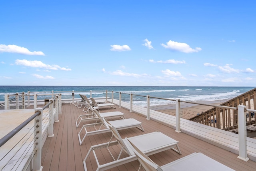
M256 1L1 2L0 85L255 86Z

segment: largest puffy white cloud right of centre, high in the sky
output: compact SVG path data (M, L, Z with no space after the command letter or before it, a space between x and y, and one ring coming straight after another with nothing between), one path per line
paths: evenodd
M174 42L172 40L169 40L169 42L166 42L167 45L161 44L164 48L174 50L174 51L179 51L179 52L184 52L184 53L192 53L192 52L199 52L202 49L201 48L190 48L190 46L186 43L179 43L179 42Z

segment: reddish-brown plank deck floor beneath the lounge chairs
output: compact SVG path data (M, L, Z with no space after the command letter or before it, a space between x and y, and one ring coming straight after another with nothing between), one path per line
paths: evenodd
M237 154L192 137L188 134L176 133L174 129L164 124L153 120L147 120L145 116L138 115L133 112L131 113L127 109L119 108L118 105L116 105L116 109L111 107L100 109L100 112L109 111L121 111L122 113L125 113L126 118L135 118L143 123L142 125L145 132L142 132L137 128L121 130L119 133L122 138L160 131L179 141L179 147L182 151L182 155L179 155L172 150L167 150L150 156L150 158L158 165L164 165L194 152L201 152L237 171L256 170L256 162L252 160L247 162L242 161L237 158ZM90 147L99 143L106 143L110 140L112 134L109 132L88 136L83 144L79 145L78 132L80 131L82 124L80 127L76 128L75 121L81 114L85 113L82 109L79 109L72 104L70 105L67 103L62 105L62 114L59 115L59 122L54 123L54 137L47 138L42 148L43 171L83 171L83 160ZM115 117L111 119L114 120L120 118ZM83 122L83 124L86 123L92 123L92 121ZM99 157L99 160L102 163L112 160L106 151L101 151L102 156ZM90 157L90 160L87 160L86 163L89 171L96 170L97 165L94 157ZM115 167L111 169L111 171L135 171L138 170L138 167L138 161L133 161L131 163ZM214 168L214 165L209 165L209 167ZM201 169L203 170L203 168Z

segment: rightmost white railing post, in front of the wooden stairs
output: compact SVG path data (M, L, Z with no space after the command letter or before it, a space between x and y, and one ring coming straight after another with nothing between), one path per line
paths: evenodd
M238 138L239 138L239 156L238 159L248 161L247 157L247 130L246 130L246 106L238 106Z

